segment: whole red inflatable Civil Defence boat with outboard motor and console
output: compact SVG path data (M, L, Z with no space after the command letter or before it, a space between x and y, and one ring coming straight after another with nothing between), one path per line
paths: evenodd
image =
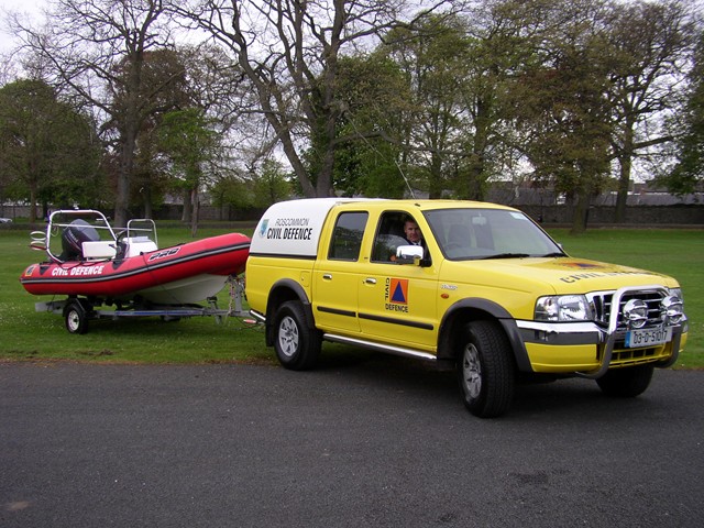
M84 306L183 306L216 295L244 272L250 239L229 233L158 249L152 220L131 220L116 232L99 211L62 210L52 213L46 232L32 233L32 248L48 258L20 277L30 294L85 297Z

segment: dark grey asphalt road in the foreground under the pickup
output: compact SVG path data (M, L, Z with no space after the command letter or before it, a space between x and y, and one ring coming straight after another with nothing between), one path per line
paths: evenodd
M0 526L701 527L704 372L641 397L373 355L278 366L0 363Z

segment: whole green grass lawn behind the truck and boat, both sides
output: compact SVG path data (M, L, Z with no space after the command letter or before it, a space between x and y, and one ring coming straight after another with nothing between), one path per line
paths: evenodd
M251 230L240 230L251 234ZM226 232L204 229L199 238ZM690 337L678 367L704 367L704 231L703 230L591 230L572 237L566 230L551 234L572 256L614 262L672 275L684 292ZM160 227L160 246L188 242L183 227ZM58 315L36 312L34 302L51 300L24 292L22 271L44 258L29 248L29 230L0 229L0 359L68 359L101 362L212 363L264 362L274 364L274 352L264 345L261 326L239 318L218 324L212 317L177 322L158 318L99 320L82 336L69 334ZM229 293L218 296L220 308ZM326 343L324 348L340 345ZM350 350L344 348L345 351Z

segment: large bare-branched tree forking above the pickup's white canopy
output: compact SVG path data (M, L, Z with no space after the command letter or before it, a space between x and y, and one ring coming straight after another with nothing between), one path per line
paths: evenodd
M314 197L333 191L338 123L345 110L338 97L340 57L395 24L403 7L376 0L195 0L178 12L237 57L302 193ZM304 153L316 158L307 164Z

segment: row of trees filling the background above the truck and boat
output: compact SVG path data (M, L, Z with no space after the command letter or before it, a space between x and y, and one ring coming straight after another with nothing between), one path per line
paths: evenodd
M409 13L404 23L394 18L395 2L286 0L266 10L244 2L234 11L213 4L205 12L180 9L208 28L213 44L172 48L170 34L162 32L172 23L166 6L138 2L121 20L110 10L95 12L92 2L69 2L51 19L53 38L28 42L64 43L51 56L34 52L58 68L52 74L62 89L106 117L99 129L111 141L111 157L102 165L116 184L116 215L138 200L148 211L168 184L197 193L209 176L210 184L221 178L219 202L252 207L287 195L288 185L306 196L397 197L411 187L433 198L484 199L493 178L531 177L574 198L580 230L591 198L608 180L619 183L620 211L635 160L668 154L673 135L676 164L662 182L676 194L701 185L704 44L692 61L685 53L694 47L693 28L704 37L690 3L455 2L451 10ZM300 16L288 16L294 8ZM287 37L258 32L253 20ZM372 34L381 36L374 48ZM106 35L119 44L110 53L102 53ZM78 42L80 68L68 53ZM91 73L96 85L84 86L88 77L77 72ZM678 111L688 82L689 103ZM36 94L31 106L0 101L0 113L31 108L18 112L28 127L52 123L34 125L33 141L28 135L24 143L33 154L24 160L12 133L0 133L0 198L105 200L99 147L85 142L95 138L92 127L79 114L72 121L63 103L48 105L61 101L46 89ZM675 134L661 133L664 116L678 120ZM221 141L235 154L219 148ZM271 179L266 168L242 176L250 168L235 160L251 167L276 146L289 162L288 183ZM58 152L70 154L57 158Z

